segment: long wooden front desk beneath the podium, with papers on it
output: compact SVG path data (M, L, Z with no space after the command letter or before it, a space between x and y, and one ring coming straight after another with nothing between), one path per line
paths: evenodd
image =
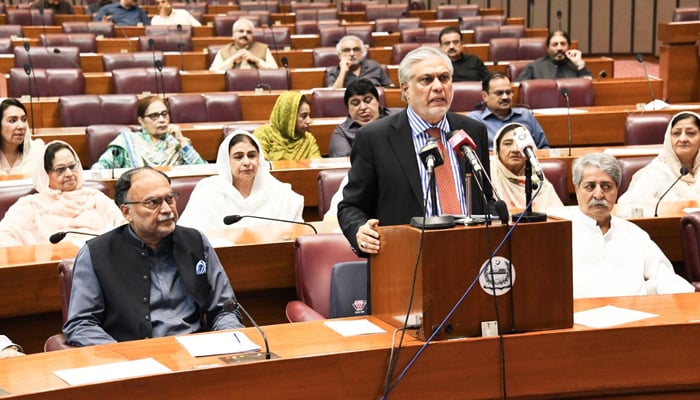
M694 398L700 295L580 299L575 311L614 305L656 317L592 329L572 329L435 342L398 382L391 398ZM240 398L372 399L382 392L392 329L342 337L322 321L264 327L280 358L226 365L218 357L193 358L173 337L34 354L3 360L0 388L17 399ZM243 332L262 345L255 330ZM397 373L423 343L407 337ZM501 358L501 350L504 358ZM153 357L171 369L159 375L68 386L53 371ZM502 361L504 360L504 361ZM503 365L502 363L505 363ZM505 371L506 375L503 376ZM274 379L271 379L274 377ZM196 382L196 384L193 384Z

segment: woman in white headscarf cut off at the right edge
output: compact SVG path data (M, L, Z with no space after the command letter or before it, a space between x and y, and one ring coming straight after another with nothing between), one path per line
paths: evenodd
M629 188L617 201L617 213L628 216L632 209L641 208L645 216L652 216L667 190L664 202L700 201L699 174L700 114L683 111L666 127L661 153L632 176Z

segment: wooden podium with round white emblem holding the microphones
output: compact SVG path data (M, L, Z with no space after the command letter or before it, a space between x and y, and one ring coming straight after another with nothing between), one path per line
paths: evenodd
M458 226L426 230L418 261L409 325L420 323L415 336L426 340L453 308L507 227ZM382 249L370 258L372 314L403 326L418 255L421 231L408 225L380 228ZM509 248L510 254L509 256ZM435 340L481 336L482 321L495 321L499 332L515 333L573 326L571 222L549 218L520 224L498 251L494 273L480 276L464 302ZM512 260L514 279L509 279ZM493 291L499 293L494 301ZM413 333L411 333L413 334Z

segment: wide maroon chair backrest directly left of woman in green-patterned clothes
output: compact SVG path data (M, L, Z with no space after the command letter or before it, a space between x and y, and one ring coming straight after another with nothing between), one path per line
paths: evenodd
M137 102L133 94L62 96L58 100L61 126L136 124Z

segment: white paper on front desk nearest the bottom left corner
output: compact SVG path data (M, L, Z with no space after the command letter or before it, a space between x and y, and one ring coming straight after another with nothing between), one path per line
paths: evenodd
M170 369L165 365L152 358L144 358L92 367L62 369L53 373L69 385L84 385L166 372L170 372Z

